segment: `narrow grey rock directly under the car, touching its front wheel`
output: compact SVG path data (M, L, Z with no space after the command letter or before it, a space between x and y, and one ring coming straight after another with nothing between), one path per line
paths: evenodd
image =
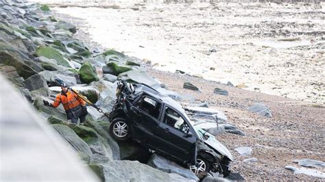
M163 172L176 173L180 174L186 179L193 179L195 181L199 181L199 178L195 176L195 174L191 170L185 169L182 166L176 164L174 161L170 161L169 159L166 159L165 157L156 153L154 153L150 157L147 164Z

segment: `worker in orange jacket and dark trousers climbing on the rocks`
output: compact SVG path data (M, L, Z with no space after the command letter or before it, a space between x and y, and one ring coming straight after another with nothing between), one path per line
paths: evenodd
M77 124L78 118L80 118L80 123L84 122L86 119L87 107L86 102L77 96L74 92L69 90L65 83L61 86L61 93L56 96L56 101L49 103L43 100L44 105L50 107L58 107L62 103L65 112L67 113L67 119L71 122Z

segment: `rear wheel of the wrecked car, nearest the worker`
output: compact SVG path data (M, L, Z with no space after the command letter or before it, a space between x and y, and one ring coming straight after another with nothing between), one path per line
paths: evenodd
M130 125L123 118L115 118L110 123L110 135L115 140L125 141L128 140L130 134Z

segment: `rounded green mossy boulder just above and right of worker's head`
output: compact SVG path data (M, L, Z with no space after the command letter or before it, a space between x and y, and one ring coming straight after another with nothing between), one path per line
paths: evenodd
M82 83L89 84L93 81L99 80L96 69L93 67L93 65L91 65L90 62L85 62L82 64L81 68L78 71L78 74Z

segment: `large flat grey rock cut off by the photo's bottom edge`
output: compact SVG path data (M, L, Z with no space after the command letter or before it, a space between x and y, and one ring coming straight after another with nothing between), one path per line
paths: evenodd
M194 181L179 174L162 172L139 161L109 161L104 171L106 181Z

